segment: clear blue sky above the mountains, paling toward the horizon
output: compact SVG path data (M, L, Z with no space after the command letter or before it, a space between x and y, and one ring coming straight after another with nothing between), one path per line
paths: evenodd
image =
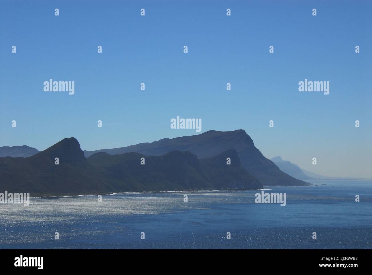
M1 0L0 146L244 129L267 158L372 178L371 14L371 1ZM45 92L51 78L75 81L75 94ZM299 92L305 79L330 94ZM177 116L202 131L171 129Z

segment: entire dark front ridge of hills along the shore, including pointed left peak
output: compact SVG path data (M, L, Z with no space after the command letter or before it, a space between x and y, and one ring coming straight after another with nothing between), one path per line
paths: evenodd
M145 165L140 163L142 157ZM231 165L226 164L227 157ZM180 151L163 156L101 152L86 159L74 137L28 158L1 157L0 178L0 192L31 196L262 188L241 167L234 150L208 159Z

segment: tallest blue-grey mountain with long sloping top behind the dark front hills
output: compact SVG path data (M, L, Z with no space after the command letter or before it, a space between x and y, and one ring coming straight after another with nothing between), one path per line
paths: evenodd
M305 181L298 180L282 172L272 161L265 158L254 146L253 140L244 130L220 132L211 130L200 135L161 139L151 143L139 143L128 147L102 149L98 151L84 151L89 157L97 152L110 155L137 152L144 155L163 155L170 151L190 151L199 158L208 158L220 154L228 149L235 149L241 165L250 174L258 178L263 185L305 186Z

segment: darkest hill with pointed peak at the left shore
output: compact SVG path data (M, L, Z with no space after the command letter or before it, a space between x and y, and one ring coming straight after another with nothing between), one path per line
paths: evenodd
M59 165L55 164L59 158ZM115 192L115 185L89 165L78 141L63 139L28 158L0 158L0 192L31 196Z

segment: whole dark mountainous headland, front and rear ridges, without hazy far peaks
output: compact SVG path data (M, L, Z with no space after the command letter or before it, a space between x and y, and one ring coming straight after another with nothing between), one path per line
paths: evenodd
M244 130L211 130L98 151L82 151L71 137L42 152L28 146L0 152L12 155L0 157L0 192L32 196L310 185L265 158Z

